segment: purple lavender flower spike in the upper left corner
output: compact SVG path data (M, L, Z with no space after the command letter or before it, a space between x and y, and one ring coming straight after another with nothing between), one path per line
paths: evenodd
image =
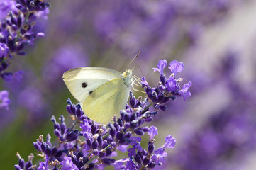
M4 0L0 3L0 77L6 81L20 80L22 71L6 72L16 55L25 55L23 49L43 33L33 29L38 17L44 17L50 4L39 0Z

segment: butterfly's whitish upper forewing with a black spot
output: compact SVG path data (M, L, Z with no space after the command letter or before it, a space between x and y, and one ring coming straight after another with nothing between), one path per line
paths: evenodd
M121 79L121 73L101 67L79 67L63 74L67 88L80 103L99 86L113 79Z

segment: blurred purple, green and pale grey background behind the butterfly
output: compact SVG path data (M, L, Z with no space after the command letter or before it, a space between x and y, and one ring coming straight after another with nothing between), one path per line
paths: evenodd
M255 0L50 2L48 19L36 23L45 37L9 68L22 69L23 79L0 81L11 99L9 110L0 110L1 169L13 169L16 152L36 155L32 142L52 135L52 115L69 119L67 98L77 101L63 72L87 66L123 72L138 51L133 72L152 86L159 74L151 68L160 59L183 62L178 77L193 83L191 98L172 101L148 124L159 130L156 147L169 134L177 139L161 169L256 169Z

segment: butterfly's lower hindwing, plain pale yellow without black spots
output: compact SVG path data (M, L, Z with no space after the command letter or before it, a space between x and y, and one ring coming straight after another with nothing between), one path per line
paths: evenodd
M82 109L92 120L107 124L126 107L129 92L130 86L123 79L113 79L92 91L81 103Z

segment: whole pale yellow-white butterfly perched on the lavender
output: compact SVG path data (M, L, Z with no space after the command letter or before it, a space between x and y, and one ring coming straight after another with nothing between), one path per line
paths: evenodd
M85 115L107 124L126 107L132 87L131 74L130 69L122 74L101 67L79 67L65 72L62 78Z

